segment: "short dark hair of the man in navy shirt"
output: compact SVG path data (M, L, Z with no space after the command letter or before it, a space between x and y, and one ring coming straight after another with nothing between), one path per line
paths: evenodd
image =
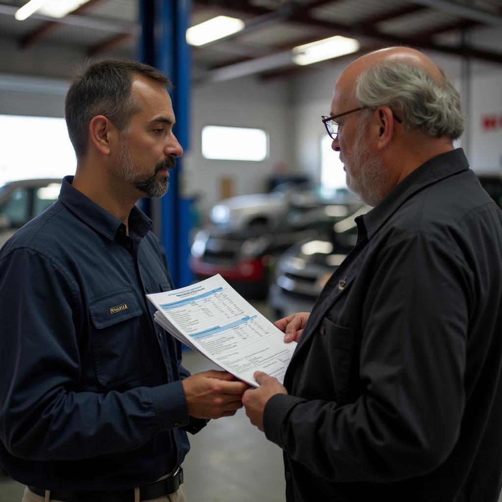
M132 96L135 75L144 75L167 89L172 87L164 73L138 61L89 60L74 71L65 99L65 119L77 159L87 153L87 128L96 115L109 118L119 131L127 130L131 116L139 109Z

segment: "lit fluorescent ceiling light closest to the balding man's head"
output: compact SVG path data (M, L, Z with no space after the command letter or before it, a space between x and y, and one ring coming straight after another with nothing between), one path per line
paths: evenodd
M335 37L294 47L293 61L300 66L304 66L351 54L358 51L359 47L357 40L336 35Z

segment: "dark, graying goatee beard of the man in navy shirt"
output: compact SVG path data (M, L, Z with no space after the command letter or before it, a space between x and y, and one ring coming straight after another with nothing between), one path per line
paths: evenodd
M142 179L127 148L127 140L122 137L119 141L118 155L113 165L113 173L122 181L129 183L141 191L145 197L153 199L163 197L169 189L169 180L164 176L158 180L157 173L161 169L174 167L175 165L176 161L168 158L165 161L159 162L155 166L154 172L148 178Z

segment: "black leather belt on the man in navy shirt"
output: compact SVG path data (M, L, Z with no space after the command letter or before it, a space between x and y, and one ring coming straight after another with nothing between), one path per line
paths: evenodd
M183 483L183 469L178 467L174 474L161 481L140 486L140 500L150 500L174 493ZM28 486L28 489L40 496L45 496L45 489ZM63 502L134 502L134 488L117 491L53 491L51 500Z

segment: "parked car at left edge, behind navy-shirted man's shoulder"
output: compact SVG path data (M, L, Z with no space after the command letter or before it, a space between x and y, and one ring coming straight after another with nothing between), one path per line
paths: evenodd
M10 181L0 186L0 246L55 202L60 189L61 179L57 178Z

